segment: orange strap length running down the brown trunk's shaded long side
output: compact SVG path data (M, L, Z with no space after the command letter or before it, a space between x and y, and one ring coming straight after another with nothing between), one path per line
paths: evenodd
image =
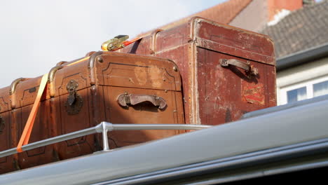
M48 74L45 74L41 79L38 94L36 95L36 99L34 101L31 113L29 114L29 118L27 119L25 128L22 132L22 136L20 137L20 142L18 142L18 146L17 146L18 152L22 152L22 145L29 143L29 137L31 136L36 113L38 112L40 100L43 95L44 89L46 88L47 81L48 81Z

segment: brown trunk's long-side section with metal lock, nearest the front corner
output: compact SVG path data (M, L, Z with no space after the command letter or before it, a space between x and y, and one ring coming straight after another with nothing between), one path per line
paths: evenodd
M65 63L67 64L67 63ZM93 126L95 106L90 85L88 60L65 66L56 71L51 85L54 97L51 97L53 135L64 135ZM54 145L57 158L64 160L83 156L95 151L94 135L69 139Z

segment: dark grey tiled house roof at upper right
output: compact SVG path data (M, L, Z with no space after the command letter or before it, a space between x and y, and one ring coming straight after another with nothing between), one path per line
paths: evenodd
M277 58L327 43L328 1L294 11L262 33L273 39Z

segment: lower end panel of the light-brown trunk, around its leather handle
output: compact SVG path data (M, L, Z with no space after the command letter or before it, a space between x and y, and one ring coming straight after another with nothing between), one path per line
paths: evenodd
M181 109L177 110L175 106L175 92L164 90L144 90L140 88L125 88L125 87L104 87L107 94L107 118L110 123L179 123L178 114ZM125 92L129 94L141 95L157 95L162 97L168 104L165 109L160 110L149 102L143 102L131 107L121 107L116 97ZM181 101L181 99L180 99ZM178 112L179 111L179 112ZM161 139L177 135L177 130L136 130L136 131L114 131L109 132L109 138L116 146L127 146L137 144L153 139ZM112 146L113 147L113 146Z

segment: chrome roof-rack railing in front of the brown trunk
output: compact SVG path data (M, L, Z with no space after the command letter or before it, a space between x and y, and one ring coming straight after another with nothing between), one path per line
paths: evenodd
M59 135L56 137L51 137L49 139L44 139L39 142L33 142L22 146L23 151L36 149L41 146L46 146L48 144L54 144L57 142L63 142L69 139L74 139L76 137L82 137L85 135L91 135L95 133L102 132L102 141L104 146L104 151L109 150L109 144L107 139L107 132L113 130L200 130L203 128L210 128L210 125L188 125L188 124L112 124L103 121L99 125L92 128L86 128L83 130L78 130L76 132L71 132L65 135ZM0 152L0 158L5 156L10 156L18 153L17 148L8 149L6 151Z

